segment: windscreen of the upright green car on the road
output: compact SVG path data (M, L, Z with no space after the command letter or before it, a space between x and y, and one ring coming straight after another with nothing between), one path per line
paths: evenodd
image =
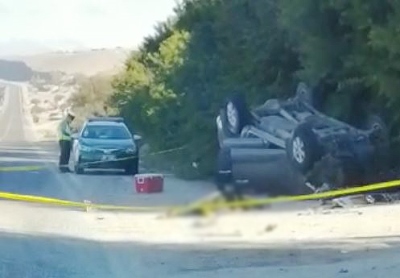
M88 125L82 132L82 138L87 139L130 139L132 136L123 126Z

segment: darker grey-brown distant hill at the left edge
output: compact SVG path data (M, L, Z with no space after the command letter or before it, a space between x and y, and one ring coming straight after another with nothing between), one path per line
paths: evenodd
M0 79L15 82L29 81L33 71L24 62L0 60Z

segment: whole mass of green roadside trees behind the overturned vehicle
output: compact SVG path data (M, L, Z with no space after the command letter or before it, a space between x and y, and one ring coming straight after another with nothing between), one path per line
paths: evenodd
M103 92L92 80L73 101L93 109L108 103L152 151L185 146L164 161L186 177L212 173L215 117L233 92L252 105L292 95L302 80L328 114L356 124L381 112L396 134L399 24L393 0L184 0L112 88Z

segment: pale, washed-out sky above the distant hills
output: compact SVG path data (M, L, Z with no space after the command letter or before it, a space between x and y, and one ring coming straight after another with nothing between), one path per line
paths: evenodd
M176 0L0 0L0 54L31 48L134 47ZM22 45L24 44L24 45ZM28 44L28 45L27 45ZM18 54L18 53L13 53Z

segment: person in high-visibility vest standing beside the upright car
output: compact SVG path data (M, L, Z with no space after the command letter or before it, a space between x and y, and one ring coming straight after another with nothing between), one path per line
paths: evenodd
M60 146L60 159L58 167L62 173L70 172L69 158L72 148L72 130L71 123L75 119L74 113L67 112L67 116L58 126L58 143Z

